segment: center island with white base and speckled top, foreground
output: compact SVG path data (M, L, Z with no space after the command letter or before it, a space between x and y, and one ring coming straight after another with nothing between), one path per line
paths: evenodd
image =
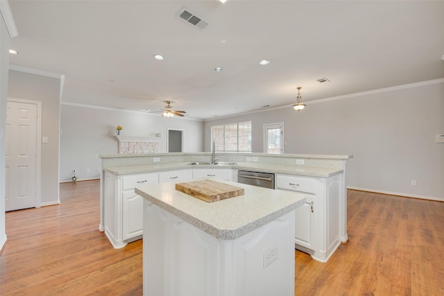
M144 198L144 295L294 295L299 193L217 180L244 195L205 202L175 182Z

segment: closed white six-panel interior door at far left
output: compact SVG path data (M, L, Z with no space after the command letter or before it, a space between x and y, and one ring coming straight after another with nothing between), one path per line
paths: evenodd
M36 206L37 104L8 101L6 211Z

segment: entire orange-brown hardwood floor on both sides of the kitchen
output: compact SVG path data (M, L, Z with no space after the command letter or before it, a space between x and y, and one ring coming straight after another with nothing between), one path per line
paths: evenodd
M99 182L60 200L6 213L0 295L142 295L142 240L99 232ZM444 202L348 191L348 235L327 263L295 252L295 295L444 295Z

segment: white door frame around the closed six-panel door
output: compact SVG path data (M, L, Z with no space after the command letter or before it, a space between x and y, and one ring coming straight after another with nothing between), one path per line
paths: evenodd
M7 102L25 103L37 105L37 128L35 149L35 208L39 208L42 203L41 184L42 184L42 101L25 100L22 98L8 98Z

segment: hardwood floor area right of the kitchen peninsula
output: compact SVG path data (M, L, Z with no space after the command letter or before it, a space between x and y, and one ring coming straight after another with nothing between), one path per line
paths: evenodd
M444 202L347 196L349 243L327 263L296 251L295 295L444 295Z

